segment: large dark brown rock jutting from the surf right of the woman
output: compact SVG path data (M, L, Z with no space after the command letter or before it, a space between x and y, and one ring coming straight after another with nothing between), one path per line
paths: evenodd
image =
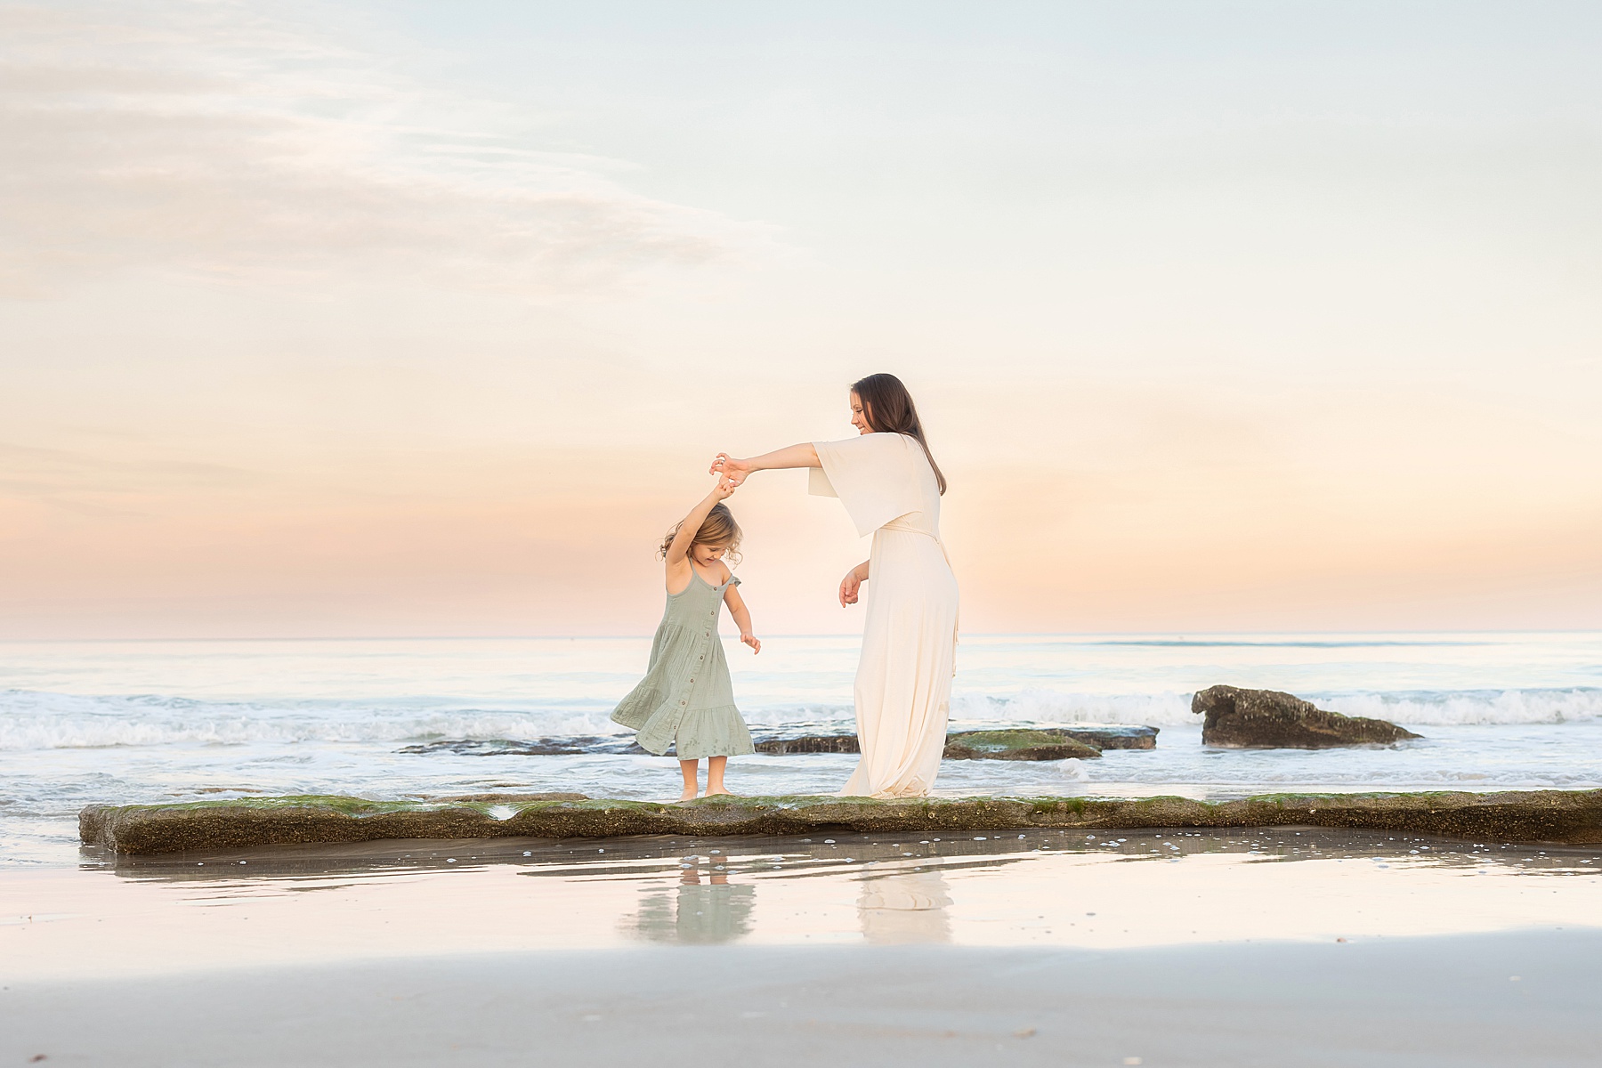
M1190 711L1206 717L1202 745L1234 749L1387 746L1419 737L1384 719L1326 713L1277 690L1214 685L1190 698Z

